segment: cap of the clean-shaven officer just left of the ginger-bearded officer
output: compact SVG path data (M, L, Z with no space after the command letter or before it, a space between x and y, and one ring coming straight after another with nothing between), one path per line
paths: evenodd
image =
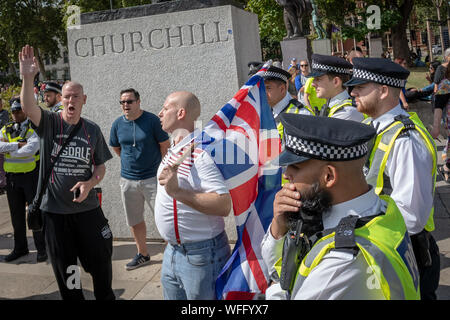
M311 56L312 72L308 77L320 77L327 73L352 74L352 64L341 57L313 54Z

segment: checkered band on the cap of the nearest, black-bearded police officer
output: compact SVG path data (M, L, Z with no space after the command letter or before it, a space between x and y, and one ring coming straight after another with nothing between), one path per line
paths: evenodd
M310 156L311 158L321 160L352 160L364 156L367 151L367 143L351 147L337 147L333 145L322 144L320 142L308 141L298 137L285 134L286 149L300 156Z

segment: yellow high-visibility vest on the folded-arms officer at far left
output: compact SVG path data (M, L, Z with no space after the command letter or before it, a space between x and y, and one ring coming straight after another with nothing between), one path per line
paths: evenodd
M18 142L21 139L28 139L34 133L34 130L31 129L30 125L28 124L28 128L24 137L19 135L13 138L11 136L11 130L9 129L13 125L14 123L9 123L2 128L3 137L7 139L6 142ZM5 161L3 162L3 170L5 170L5 172L11 173L31 172L36 168L37 161L39 161L39 154L29 157L12 157L9 153L6 153Z

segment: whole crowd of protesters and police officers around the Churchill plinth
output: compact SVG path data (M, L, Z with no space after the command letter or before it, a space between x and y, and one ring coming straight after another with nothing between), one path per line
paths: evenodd
M95 191L113 157L109 144L120 157L121 198L136 243L125 268L151 261L147 203L167 242L164 299L220 298L215 280L231 255L224 217L232 198L211 155L195 144L196 95L173 92L155 115L141 108L136 89L123 89L117 93L123 115L111 124L107 143L99 126L82 117L82 84L47 83L47 108L41 108L32 47L22 48L19 63L21 93L0 142L14 229L14 249L5 261L28 254L25 208L37 204L43 218L33 230L38 262L50 260L62 298L84 299L80 288L67 286L67 268L78 259L92 276L96 299L115 299L113 234ZM249 75L261 67L249 63ZM433 137L448 112L447 70L433 89L431 134L406 110L401 94L409 71L402 61L364 58L353 50L347 59L313 54L311 61L293 59L287 71L274 63L263 73L283 144L275 161L284 172L261 243L270 276L267 299L436 299ZM446 180L448 169L441 169ZM298 258L285 251L290 239L299 238L306 239L308 254L292 261ZM368 287L369 276L379 285Z

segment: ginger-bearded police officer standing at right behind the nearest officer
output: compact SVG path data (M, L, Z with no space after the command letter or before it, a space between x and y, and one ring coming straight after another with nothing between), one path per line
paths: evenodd
M422 299L436 299L439 249L434 230L433 198L436 147L417 114L404 111L399 94L409 71L382 58L354 58L352 86L357 108L377 130L368 161L367 181L377 194L397 203L411 236L420 272Z

